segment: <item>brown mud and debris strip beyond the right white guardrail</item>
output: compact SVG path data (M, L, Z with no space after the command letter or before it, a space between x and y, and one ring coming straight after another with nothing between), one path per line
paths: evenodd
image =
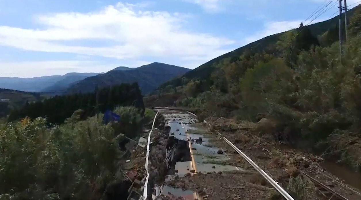
M293 149L283 142L275 141L274 138L268 137L268 135L260 135L255 128L255 124L247 124L246 128L240 125L233 125L232 127L232 125L227 124L227 122L222 119L212 121L210 124L212 124L209 128L210 132L214 134L221 133L223 137L229 139L229 141L248 155L285 189L288 186L288 181L291 176L301 176L304 178L306 175L303 173L306 173L349 200L361 199L360 195L349 190L347 187L358 191L357 188L347 185L344 180L336 177L323 167L325 161L322 157L306 151ZM222 139L214 139L211 143L228 151L231 160L243 160L243 158ZM249 168L246 169L251 170ZM322 188L320 189L317 184L315 186L316 190L309 192L309 195L313 196L312 199L329 199L328 196L326 198L322 195Z

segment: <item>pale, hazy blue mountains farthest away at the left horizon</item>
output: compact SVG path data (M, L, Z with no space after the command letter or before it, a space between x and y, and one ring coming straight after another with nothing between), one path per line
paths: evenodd
M68 73L65 75L41 76L34 78L0 77L0 88L26 92L58 92L86 77L99 73ZM100 73L102 74L102 73Z

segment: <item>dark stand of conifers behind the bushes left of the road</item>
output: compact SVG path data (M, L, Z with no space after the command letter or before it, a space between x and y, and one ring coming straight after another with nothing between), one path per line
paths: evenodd
M140 93L139 86L133 84L114 85L99 90L98 105L96 107L96 93L83 93L64 96L55 96L45 99L44 101L27 102L20 109L14 109L9 120L14 121L23 117L47 117L48 123L63 123L78 109L84 110L82 117L84 119L92 116L97 110L104 112L113 110L116 106L134 106L142 110L144 114L143 97Z

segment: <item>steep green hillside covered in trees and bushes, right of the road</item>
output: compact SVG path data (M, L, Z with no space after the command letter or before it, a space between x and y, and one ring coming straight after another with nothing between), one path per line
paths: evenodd
M257 136L361 169L361 6L349 16L342 54L336 18L301 24L215 58L144 102L188 108L200 120L260 123Z

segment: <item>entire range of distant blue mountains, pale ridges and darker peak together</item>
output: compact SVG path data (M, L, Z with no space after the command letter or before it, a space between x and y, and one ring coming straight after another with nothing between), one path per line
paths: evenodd
M51 95L93 92L121 83L138 82L142 93L152 92L162 83L190 71L188 68L154 62L137 68L117 67L104 73L68 73L34 78L0 77L0 88Z

